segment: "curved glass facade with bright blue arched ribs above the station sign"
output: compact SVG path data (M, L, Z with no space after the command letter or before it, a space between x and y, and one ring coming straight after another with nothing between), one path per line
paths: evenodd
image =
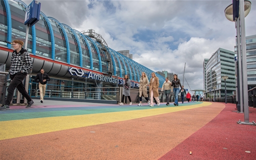
M27 5L21 0L0 0L0 40L8 40L7 35L11 35L11 39L8 41L14 39L25 40L26 25L24 25L24 18L26 7ZM6 8L9 8L9 12ZM11 23L8 23L8 17ZM12 47L4 42L0 42L0 46L7 46L10 49ZM113 75L124 77L127 74L133 81L139 81L141 71L145 71L148 78L151 77L151 72L154 72L104 46L112 57L110 58L112 66L109 67L106 61L106 52L101 50L102 46L104 46L102 43L88 35L62 24L53 17L47 17L42 12L40 12L39 21L29 27L27 50L38 58L44 57L49 60L56 60L66 63L67 66L79 66L102 74L105 74L111 68L110 71ZM157 73L156 76L159 77L161 86L164 77Z

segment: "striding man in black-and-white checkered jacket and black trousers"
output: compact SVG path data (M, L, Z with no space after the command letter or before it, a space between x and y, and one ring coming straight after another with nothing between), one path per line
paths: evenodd
M0 110L7 110L11 102L13 92L15 88L27 99L27 107L30 107L34 102L26 92L23 85L23 79L26 77L26 73L32 68L32 61L30 55L25 49L22 48L24 42L21 40L13 40L12 45L14 51L11 55L9 77L11 82L7 88L8 94L4 104L0 106ZM24 54L24 56L22 56ZM23 59L24 57L24 59Z

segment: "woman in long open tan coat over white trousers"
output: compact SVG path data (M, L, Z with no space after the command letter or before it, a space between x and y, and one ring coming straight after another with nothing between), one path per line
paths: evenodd
M155 73L151 73L151 78L149 82L149 95L150 95L150 105L149 106L154 106L153 104L153 97L155 98L157 105L160 105L160 100L158 98L159 93L158 93L158 86L159 86L159 79L157 76L155 76Z

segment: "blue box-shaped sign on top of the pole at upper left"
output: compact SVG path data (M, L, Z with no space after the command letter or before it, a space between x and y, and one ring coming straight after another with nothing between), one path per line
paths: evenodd
M27 7L25 11L25 22L24 24L29 24L30 26L35 24L39 20L41 3L37 3L33 0Z

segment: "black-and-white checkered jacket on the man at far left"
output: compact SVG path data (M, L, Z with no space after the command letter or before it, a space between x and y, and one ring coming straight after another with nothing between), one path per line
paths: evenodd
M25 54L24 60L22 59L22 54ZM11 59L10 59L10 68L9 74L13 75L19 71L22 73L26 73L29 69L33 66L31 57L27 53L27 51L23 48L17 53L16 50L12 52Z

